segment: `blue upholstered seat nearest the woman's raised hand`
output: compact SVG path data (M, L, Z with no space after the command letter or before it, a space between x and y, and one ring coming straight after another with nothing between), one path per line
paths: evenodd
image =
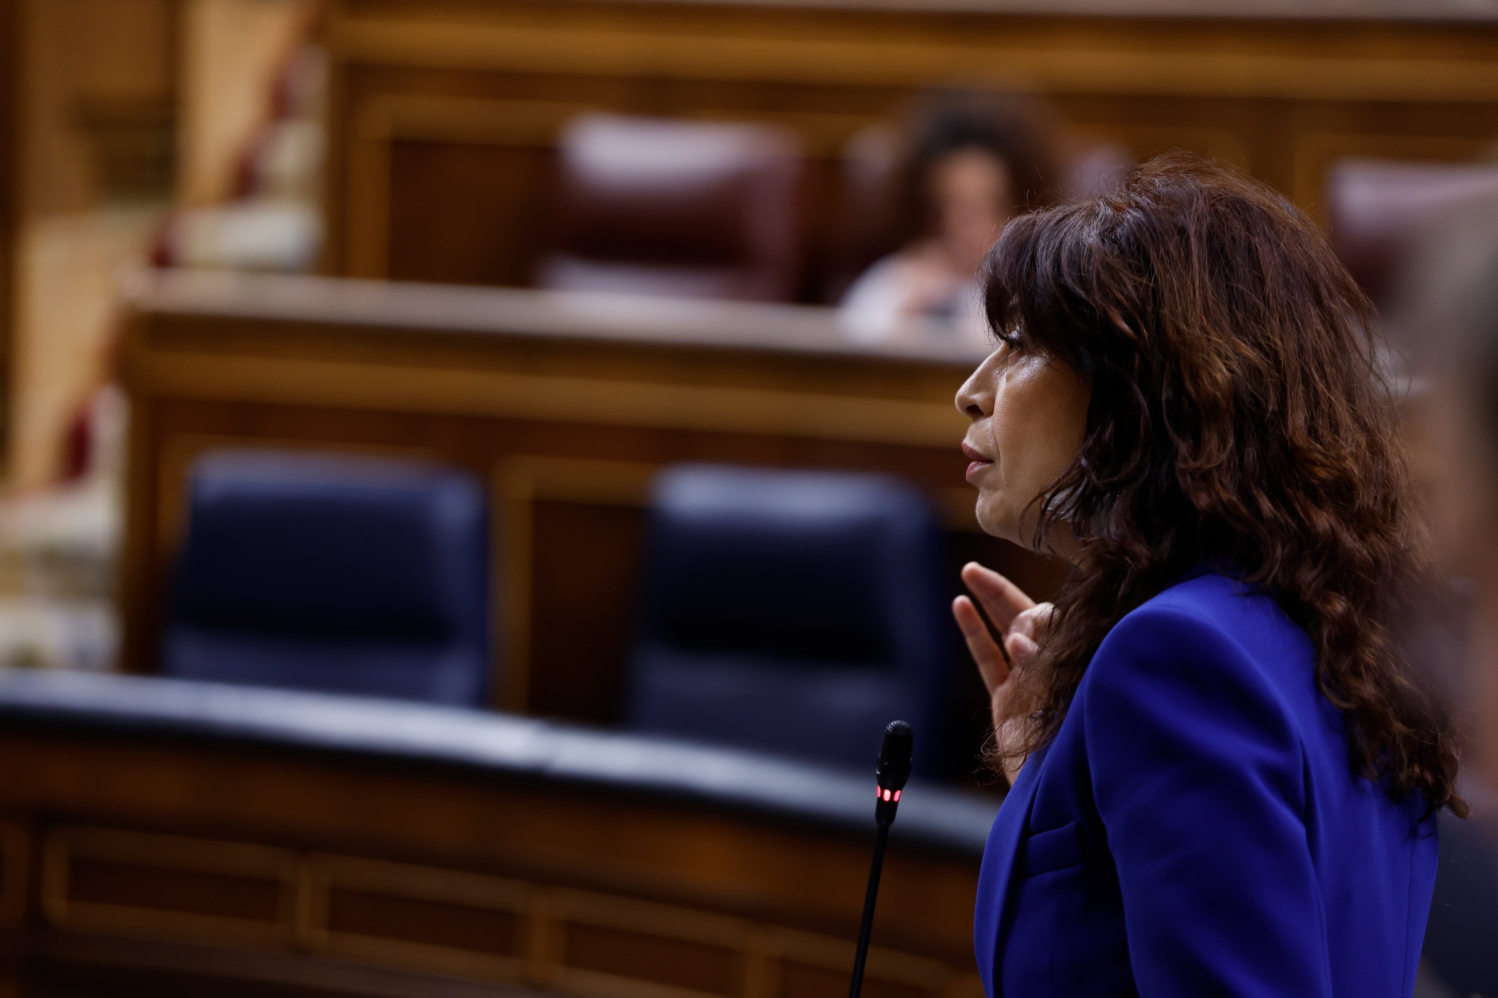
M631 727L864 768L903 718L930 771L948 624L914 488L679 465L653 504Z

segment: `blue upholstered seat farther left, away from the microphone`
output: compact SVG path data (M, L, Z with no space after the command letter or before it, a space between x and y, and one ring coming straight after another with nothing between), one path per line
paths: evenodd
M192 473L163 672L481 705L484 495L439 467L220 450Z

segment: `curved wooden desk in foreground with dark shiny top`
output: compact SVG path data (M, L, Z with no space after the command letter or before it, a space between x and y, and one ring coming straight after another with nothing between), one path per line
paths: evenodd
M144 676L0 670L0 769L25 998L840 998L873 839L872 772ZM870 998L983 994L995 809L911 786Z

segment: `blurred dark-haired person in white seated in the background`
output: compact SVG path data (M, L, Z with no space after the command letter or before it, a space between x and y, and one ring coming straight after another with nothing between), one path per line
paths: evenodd
M924 317L987 343L977 284L983 254L1017 211L1056 199L1055 136L1041 108L989 91L918 99L897 138L887 192L893 242L842 301L848 334L897 335Z

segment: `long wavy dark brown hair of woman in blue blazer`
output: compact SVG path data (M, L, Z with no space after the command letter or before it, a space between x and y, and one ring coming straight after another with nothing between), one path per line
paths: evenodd
M1450 721L1390 621L1426 567L1372 305L1281 195L1183 154L1118 189L1011 221L984 263L995 331L1092 388L1082 449L1037 500L1083 569L995 748L1061 726L1094 652L1203 560L1273 594L1317 652L1353 771L1465 815Z

